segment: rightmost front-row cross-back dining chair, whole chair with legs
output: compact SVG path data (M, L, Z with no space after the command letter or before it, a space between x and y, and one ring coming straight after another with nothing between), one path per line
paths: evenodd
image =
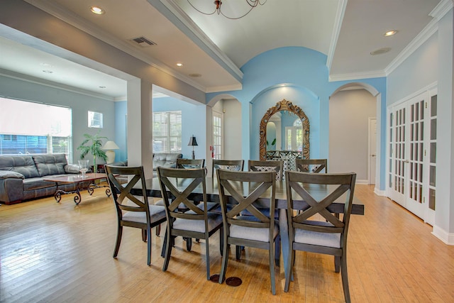
M284 292L288 292L295 259L295 250L334 255L335 271L341 271L345 302L350 302L347 274L347 235L355 192L356 174L311 174L286 172L287 222L289 226L289 256L285 273ZM320 189L328 188L328 194ZM319 189L319 190L317 190ZM293 196L295 194L295 196ZM343 199L342 219L332 214L333 202ZM299 214L294 200L303 199L309 207Z

